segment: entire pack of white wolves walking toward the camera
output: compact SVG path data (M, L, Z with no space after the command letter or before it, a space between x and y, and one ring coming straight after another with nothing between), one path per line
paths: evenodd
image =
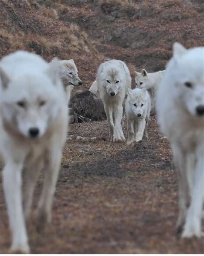
M53 195L68 133L68 103L82 85L74 60L46 62L16 51L0 60L0 155L2 184L12 234L11 252L29 253L26 223L40 171L44 180L35 212L37 230L51 221ZM150 113L170 142L178 170L179 218L183 238L201 237L204 207L204 47L173 44L166 70L130 71L124 61L99 65L90 91L104 105L110 141L148 140ZM22 172L25 187L22 192Z

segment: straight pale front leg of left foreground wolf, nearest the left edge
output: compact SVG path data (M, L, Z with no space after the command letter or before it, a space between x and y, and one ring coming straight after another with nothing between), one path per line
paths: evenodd
M29 253L22 205L22 163L9 160L3 169L3 190L12 232L11 252Z

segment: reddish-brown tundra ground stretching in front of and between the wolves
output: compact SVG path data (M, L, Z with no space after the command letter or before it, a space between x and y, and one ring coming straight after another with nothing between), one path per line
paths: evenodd
M108 127L106 122L74 124L69 133L108 138ZM32 253L204 253L204 240L180 240L176 234L177 176L161 137L151 118L148 142L69 141L53 222L43 234L28 227ZM42 179L35 201L41 184ZM2 186L0 230L0 252L6 253Z

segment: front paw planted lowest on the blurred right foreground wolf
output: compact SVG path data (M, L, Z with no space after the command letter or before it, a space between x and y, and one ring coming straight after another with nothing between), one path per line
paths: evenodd
M198 218L187 219L184 230L182 233L182 238L190 238L190 237L202 237L204 236L204 232L201 231L201 222Z

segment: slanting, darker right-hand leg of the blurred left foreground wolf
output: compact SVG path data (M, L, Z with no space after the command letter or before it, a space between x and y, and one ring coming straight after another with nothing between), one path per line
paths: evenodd
M46 224L51 221L53 195L56 188L61 159L62 149L60 147L53 148L45 166L43 190L37 208L36 226L38 230L43 230Z

